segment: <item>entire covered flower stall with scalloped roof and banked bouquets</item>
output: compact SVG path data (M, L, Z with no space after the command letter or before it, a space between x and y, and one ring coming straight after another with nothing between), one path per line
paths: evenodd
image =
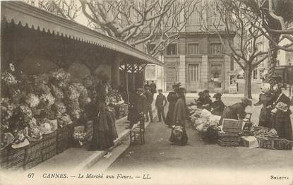
M161 65L124 42L20 1L1 3L1 152L4 169L30 169L92 136L95 85L108 76L107 105L119 67Z

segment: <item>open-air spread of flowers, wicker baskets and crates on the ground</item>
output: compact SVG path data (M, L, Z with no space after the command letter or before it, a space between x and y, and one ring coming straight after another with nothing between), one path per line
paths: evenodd
M207 143L217 143L221 146L244 146L249 148L267 148L276 150L292 150L292 141L278 138L275 129L256 126L251 122L251 114L244 119L223 119L213 115L206 109L198 109L196 105L189 105L189 112L193 128Z

